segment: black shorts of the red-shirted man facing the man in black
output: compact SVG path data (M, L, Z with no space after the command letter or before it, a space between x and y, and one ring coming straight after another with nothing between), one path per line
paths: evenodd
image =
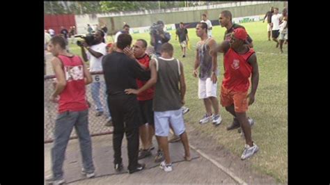
M145 101L139 101L140 112L141 112L141 124L151 124L155 127L154 120L154 111L152 111L152 99L148 99Z

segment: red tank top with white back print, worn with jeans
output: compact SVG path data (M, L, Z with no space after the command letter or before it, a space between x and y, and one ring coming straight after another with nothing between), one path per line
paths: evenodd
M86 88L84 80L84 67L79 56L63 56L58 58L63 63L66 86L58 100L58 112L84 111L88 108L86 102Z

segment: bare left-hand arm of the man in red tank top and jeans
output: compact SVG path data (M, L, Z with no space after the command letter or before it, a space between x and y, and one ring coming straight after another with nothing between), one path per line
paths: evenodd
M54 57L52 60L52 67L54 70L54 73L56 75L57 83L55 87L55 91L52 94L52 97L50 98L52 102L56 102L56 97L62 93L66 86L66 80L65 80L65 74L63 71L63 65L59 58Z

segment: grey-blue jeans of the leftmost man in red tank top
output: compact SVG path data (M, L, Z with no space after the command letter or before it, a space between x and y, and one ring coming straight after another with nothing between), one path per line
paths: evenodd
M92 141L88 130L88 110L59 113L55 122L54 145L52 147L52 171L54 179L63 179L65 149L73 127L79 138L82 163L86 172L94 172Z

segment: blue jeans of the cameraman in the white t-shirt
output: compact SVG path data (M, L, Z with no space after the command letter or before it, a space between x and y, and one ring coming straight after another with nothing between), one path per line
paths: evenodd
M101 86L103 86L104 88L104 109L103 109L103 106L102 106L102 103L101 103L101 100L100 100L100 88ZM105 87L105 82L104 81L96 81L96 82L93 82L91 83L91 93L92 93L92 98L94 100L94 103L95 103L95 108L96 108L96 111L97 112L103 112L104 111L104 114L107 116L107 117L111 117L111 113L109 111L109 108L108 108L108 101L107 101L107 93L106 93L106 90L107 88Z

